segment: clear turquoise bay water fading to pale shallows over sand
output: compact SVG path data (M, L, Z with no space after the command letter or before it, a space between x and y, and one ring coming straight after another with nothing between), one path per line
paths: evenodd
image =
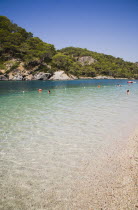
M121 152L137 104L138 81L0 82L0 207L70 209L86 165L98 174Z

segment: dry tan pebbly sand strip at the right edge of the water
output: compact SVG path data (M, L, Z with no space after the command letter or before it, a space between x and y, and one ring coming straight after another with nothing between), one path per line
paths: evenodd
M119 159L120 175L112 186L111 208L108 206L107 209L138 209L138 130L129 138Z

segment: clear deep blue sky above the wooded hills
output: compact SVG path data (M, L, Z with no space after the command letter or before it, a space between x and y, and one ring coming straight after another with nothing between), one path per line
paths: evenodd
M138 61L138 0L0 0L0 15L56 49Z

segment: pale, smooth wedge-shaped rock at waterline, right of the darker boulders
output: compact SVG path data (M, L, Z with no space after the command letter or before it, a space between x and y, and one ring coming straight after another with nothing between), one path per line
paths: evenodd
M73 75L67 75L64 71L56 71L53 76L50 77L50 80L73 80L77 79L77 77Z

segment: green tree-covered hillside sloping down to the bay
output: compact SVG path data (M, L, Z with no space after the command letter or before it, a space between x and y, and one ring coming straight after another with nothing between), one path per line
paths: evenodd
M16 70L16 71L15 71ZM138 78L138 65L121 58L67 47L56 50L24 28L0 16L0 74L9 76L18 71L50 73L58 70L79 77L98 75L115 78ZM25 78L25 77L24 77Z

